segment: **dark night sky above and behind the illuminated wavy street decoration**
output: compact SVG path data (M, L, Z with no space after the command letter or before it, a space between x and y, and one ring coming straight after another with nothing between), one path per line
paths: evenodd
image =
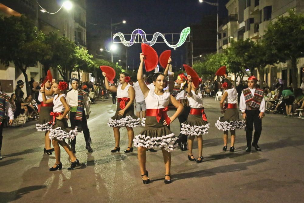
M216 3L216 0L209 0ZM227 10L225 4L228 0L219 0L219 15L225 17ZM147 34L181 33L181 31L192 24L199 23L202 16L216 14L216 6L207 3L199 3L198 0L87 0L87 32L97 30L110 30L110 23L126 20L126 24L117 26L113 33L122 32L131 34L133 30L140 28ZM152 36L147 37L151 40ZM119 38L117 38L119 39ZM126 38L130 40L130 38ZM177 39L178 40L178 39ZM111 34L105 44L111 42ZM120 44L120 46L123 46ZM164 43L153 45L158 55L162 51L171 49ZM140 44L128 47L128 65L133 67L139 62ZM185 59L185 47L181 46L172 51L172 58L181 66L181 54ZM114 59L114 62L118 58ZM185 63L185 60L183 61ZM136 68L136 67L135 67ZM137 69L137 68L136 68Z

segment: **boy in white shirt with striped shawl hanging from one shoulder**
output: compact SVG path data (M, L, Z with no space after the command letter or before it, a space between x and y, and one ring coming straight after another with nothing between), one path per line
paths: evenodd
M75 128L77 126L77 130L79 133L81 133L81 130L83 131L83 134L85 136L85 149L87 149L88 152L93 152L90 146L91 137L87 123L87 119L90 116L90 105L88 103L87 93L81 89L78 89L78 83L79 80L77 78L72 78L70 80L70 85L72 86L72 89L67 93L67 103L71 109L71 127ZM84 106L87 110L87 114L85 114ZM73 153L76 152L75 145L76 138L71 140L71 149L73 150Z

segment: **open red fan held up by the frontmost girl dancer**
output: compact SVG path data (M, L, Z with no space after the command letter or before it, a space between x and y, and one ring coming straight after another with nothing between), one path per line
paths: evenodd
M156 51L148 44L141 44L141 51L145 55L145 68L147 72L154 70L158 64L158 55Z

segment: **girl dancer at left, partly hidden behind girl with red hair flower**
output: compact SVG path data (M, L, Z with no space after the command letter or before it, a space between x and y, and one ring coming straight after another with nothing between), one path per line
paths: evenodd
M53 92L53 86L51 84L51 81L48 80L44 84L44 96L46 96L47 100L54 97ZM47 132L50 130L50 125L48 122L51 120L50 113L53 110L53 103L43 103L42 93L41 89L38 95L38 100L41 103L40 112L39 112L39 121L36 124L37 131L45 131L44 133L44 149L43 152L45 154L52 154L54 152L54 148L51 148L51 140L47 134Z

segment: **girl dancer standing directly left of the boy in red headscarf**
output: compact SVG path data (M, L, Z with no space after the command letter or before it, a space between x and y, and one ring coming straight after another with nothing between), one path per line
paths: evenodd
M225 75L226 76L226 75ZM228 78L222 80L223 88L225 90L219 106L222 110L223 117L216 121L217 129L224 131L224 147L227 150L228 131L231 134L230 152L234 152L235 129L242 129L246 126L246 121L240 120L239 111L237 109L237 90L232 87L232 83ZM224 107L224 102L225 107Z

